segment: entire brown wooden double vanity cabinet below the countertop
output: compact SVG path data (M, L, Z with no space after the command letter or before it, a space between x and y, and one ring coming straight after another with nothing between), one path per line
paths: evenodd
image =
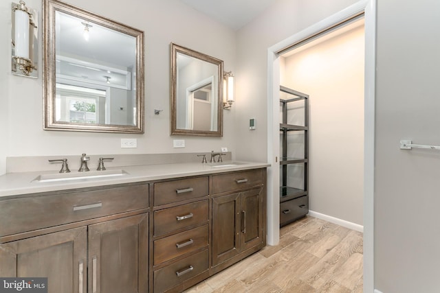
M266 169L0 198L0 276L182 292L265 246Z

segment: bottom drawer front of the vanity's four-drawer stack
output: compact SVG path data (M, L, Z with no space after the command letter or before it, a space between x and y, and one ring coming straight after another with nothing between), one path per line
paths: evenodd
M208 249L171 263L154 272L154 291L164 292L208 270Z

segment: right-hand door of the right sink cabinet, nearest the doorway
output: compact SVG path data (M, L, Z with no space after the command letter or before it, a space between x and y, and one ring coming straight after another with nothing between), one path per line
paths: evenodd
M263 242L263 189L252 189L241 193L241 251Z

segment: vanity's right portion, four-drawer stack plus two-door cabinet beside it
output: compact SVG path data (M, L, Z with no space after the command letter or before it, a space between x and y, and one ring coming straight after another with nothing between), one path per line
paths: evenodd
M265 246L266 169L154 183L150 290L182 292Z

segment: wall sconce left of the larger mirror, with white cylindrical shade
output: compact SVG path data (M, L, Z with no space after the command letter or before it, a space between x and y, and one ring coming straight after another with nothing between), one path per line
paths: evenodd
M24 1L12 3L12 74L38 78L38 31L36 10Z

